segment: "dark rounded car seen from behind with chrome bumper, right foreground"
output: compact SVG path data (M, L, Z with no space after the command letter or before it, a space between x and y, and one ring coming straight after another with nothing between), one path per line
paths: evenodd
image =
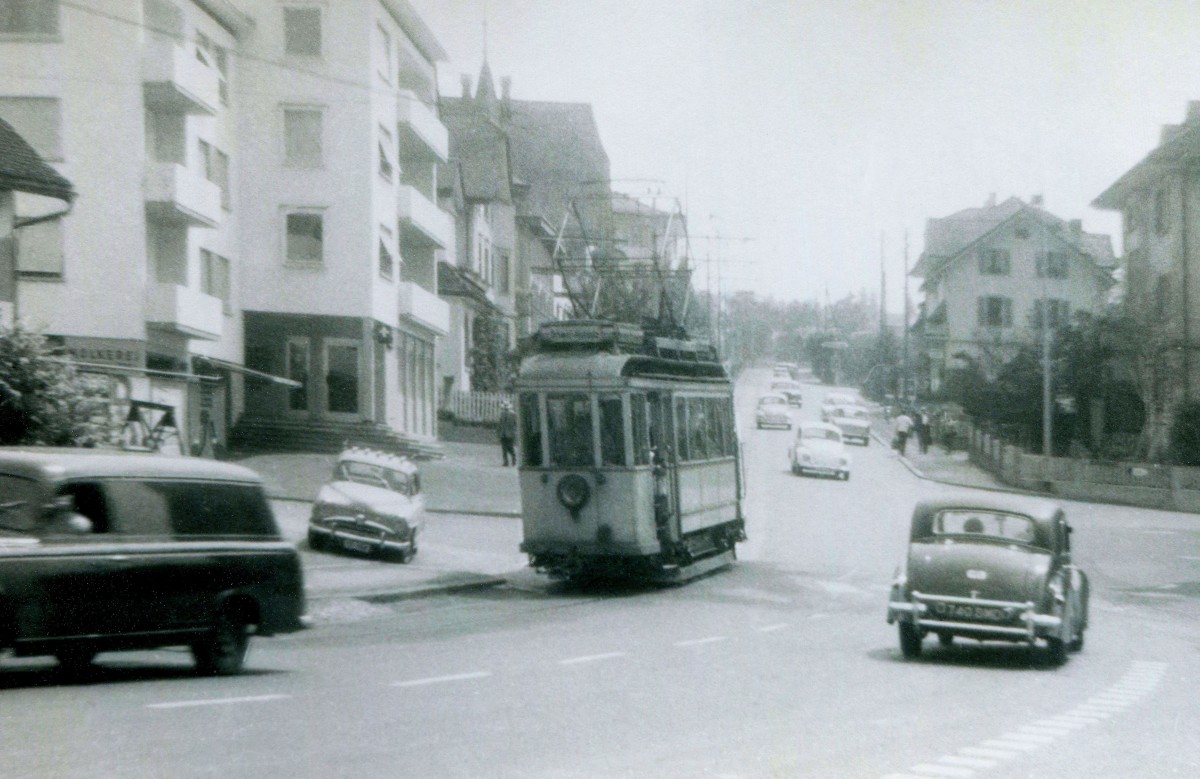
M1087 629L1087 575L1072 562L1070 534L1063 507L1044 498L978 493L917 504L888 601L901 653L919 655L930 633L943 647L956 636L1040 640L1061 665L1084 648Z

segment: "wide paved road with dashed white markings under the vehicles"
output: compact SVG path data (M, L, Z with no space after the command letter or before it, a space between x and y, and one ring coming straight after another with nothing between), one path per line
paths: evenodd
M1200 775L1196 517L1070 505L1096 592L1064 667L932 642L910 663L887 587L913 501L941 487L877 445L848 483L796 478L788 439L745 431L751 540L684 587L521 573L331 601L233 679L169 652L110 655L85 685L10 661L5 775Z

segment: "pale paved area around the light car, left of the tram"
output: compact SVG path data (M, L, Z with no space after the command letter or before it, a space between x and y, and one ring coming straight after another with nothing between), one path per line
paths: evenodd
M427 515L420 551L407 564L308 550L311 503L335 455L281 453L238 461L263 478L283 538L300 550L305 593L318 619L332 599L388 601L493 587L527 569L517 469L500 466L498 445L444 448L444 460L418 462Z

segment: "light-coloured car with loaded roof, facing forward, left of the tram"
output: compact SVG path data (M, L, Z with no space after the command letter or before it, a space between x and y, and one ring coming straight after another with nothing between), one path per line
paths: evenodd
M308 520L308 546L361 555L416 555L425 526L425 496L416 466L407 457L352 448L334 463Z

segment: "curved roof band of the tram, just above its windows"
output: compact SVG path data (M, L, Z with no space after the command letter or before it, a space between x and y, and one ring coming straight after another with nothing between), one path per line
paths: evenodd
M518 380L524 384L634 377L704 382L727 382L730 378L720 362L668 360L644 354L557 352L526 358L521 362Z

